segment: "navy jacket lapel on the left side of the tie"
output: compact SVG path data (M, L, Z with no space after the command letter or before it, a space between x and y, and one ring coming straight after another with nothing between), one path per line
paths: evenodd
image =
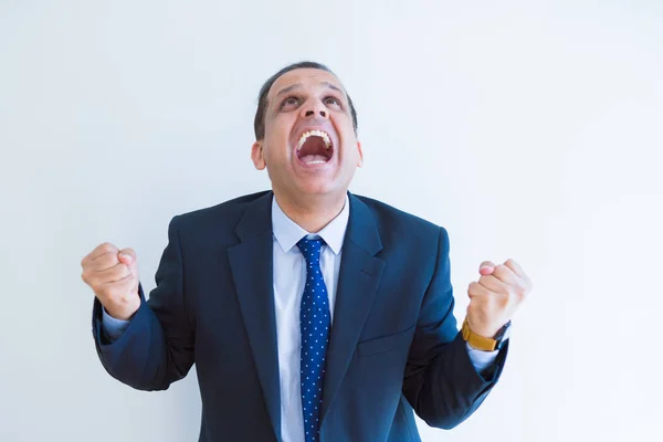
M281 441L281 391L273 295L272 192L249 206L235 229L241 243L228 249L232 277L265 403Z

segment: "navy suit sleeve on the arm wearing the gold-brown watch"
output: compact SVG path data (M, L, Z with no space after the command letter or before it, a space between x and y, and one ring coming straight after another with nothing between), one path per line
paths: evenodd
M440 228L434 273L424 294L403 379L403 394L429 425L451 429L476 410L504 366L508 344L478 373L453 316L449 235Z

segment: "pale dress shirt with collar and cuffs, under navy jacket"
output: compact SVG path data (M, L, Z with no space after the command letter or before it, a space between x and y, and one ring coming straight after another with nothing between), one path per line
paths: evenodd
M281 210L276 198L272 199L272 229L274 238L274 306L276 313L276 343L278 351L278 380L281 387L281 435L283 442L304 442L304 417L299 382L299 305L306 281L306 260L297 242L304 238L322 238L325 244L320 250L320 269L329 296L329 313L334 324L334 305L338 286L338 271L343 252L350 204L348 197L340 213L316 234L311 234L297 225ZM105 309L103 327L110 340L122 336L128 322L109 316ZM482 371L497 356L497 351L481 351L467 345L470 359Z

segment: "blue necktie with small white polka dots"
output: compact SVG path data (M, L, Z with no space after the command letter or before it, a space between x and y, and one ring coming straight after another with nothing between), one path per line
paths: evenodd
M306 442L319 440L323 385L329 344L329 301L320 270L322 239L303 238L297 246L306 259L306 285L302 296L302 411Z

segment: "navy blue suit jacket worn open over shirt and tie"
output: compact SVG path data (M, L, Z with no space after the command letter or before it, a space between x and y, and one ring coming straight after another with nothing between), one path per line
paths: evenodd
M175 217L149 301L98 356L114 378L164 390L196 364L200 441L280 441L271 191ZM494 386L457 333L443 228L350 194L323 391L320 441L419 441L413 410L449 429ZM487 378L485 378L487 376Z

